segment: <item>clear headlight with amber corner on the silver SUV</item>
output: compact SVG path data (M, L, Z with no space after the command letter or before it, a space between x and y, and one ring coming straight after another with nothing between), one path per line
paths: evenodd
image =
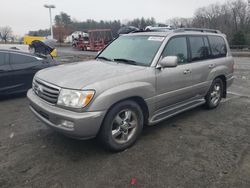
M71 108L83 108L89 104L94 94L94 91L61 89L57 104Z

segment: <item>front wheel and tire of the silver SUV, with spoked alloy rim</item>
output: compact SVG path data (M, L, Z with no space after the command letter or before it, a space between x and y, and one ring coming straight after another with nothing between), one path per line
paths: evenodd
M107 113L100 133L100 142L111 151L123 151L139 138L143 128L143 113L134 101L116 104Z

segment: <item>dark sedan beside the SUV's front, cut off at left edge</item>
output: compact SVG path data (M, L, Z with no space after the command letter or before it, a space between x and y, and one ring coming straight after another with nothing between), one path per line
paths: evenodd
M0 49L0 96L26 92L37 71L54 65L51 57Z

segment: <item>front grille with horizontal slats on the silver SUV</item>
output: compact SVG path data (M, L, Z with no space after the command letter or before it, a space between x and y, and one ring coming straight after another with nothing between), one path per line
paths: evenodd
M32 85L34 93L41 99L56 104L60 88L44 81L34 79Z

